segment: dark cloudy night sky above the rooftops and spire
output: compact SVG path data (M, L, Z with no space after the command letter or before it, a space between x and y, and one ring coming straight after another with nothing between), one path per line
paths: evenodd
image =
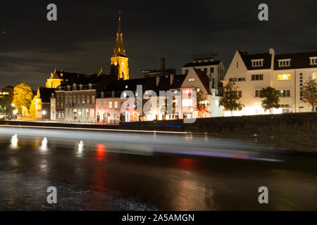
M46 6L58 8L57 22ZM269 21L258 20L268 4ZM130 79L143 69L191 62L192 53L218 53L228 68L236 49L249 53L317 50L317 1L1 1L0 88L44 86L50 72L110 69L118 10Z

